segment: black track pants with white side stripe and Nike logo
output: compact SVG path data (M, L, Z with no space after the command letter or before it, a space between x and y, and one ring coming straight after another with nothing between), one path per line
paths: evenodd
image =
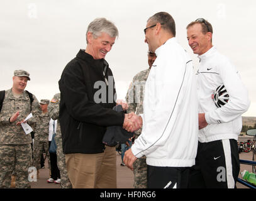
M240 171L237 140L198 143L189 188L235 188Z

